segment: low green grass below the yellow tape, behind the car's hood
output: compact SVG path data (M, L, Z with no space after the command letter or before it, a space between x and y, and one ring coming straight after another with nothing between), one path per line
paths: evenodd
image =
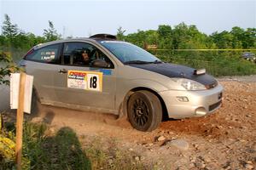
M206 68L214 77L245 76L256 74L256 64L241 58L239 52L151 52L163 61L188 65L195 69Z

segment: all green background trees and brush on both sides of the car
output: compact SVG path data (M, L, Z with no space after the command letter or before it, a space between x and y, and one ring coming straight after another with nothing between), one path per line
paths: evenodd
M9 16L5 14L5 20L0 35L0 53L9 52L13 60L19 60L29 48L42 42L49 42L60 39L61 35L55 30L53 22L49 21L49 28L44 29L44 37L35 36L30 32L24 32L16 24L12 24ZM119 40L131 42L139 47L146 48L148 45L156 45L160 49L167 49L163 53L156 53L160 59L182 65L189 65L195 68L207 67L212 75L243 75L255 74L255 65L240 59L241 53L231 52L199 52L179 51L175 49L232 49L232 48L256 48L256 28L242 29L238 26L231 31L215 31L206 35L199 31L196 26L188 26L180 23L177 26L160 25L157 30L141 31L125 36L125 30L120 26L117 31ZM3 60L3 58L5 60ZM6 67L1 67L0 84L8 83L3 78L12 71L13 61L7 61L2 54L0 62ZM208 60L216 59L216 60ZM234 60L235 59L235 60ZM3 64L4 63L4 64ZM1 65L0 64L0 65ZM206 65L206 66L205 66ZM222 65L222 66L220 66Z

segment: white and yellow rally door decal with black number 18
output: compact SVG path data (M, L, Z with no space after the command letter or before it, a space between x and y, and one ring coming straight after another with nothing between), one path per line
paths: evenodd
M102 92L102 72L68 71L67 88Z

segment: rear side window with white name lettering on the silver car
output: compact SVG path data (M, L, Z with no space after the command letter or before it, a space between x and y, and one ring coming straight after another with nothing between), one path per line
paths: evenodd
M58 61L60 43L46 46L34 50L32 53L26 55L27 60L38 61L42 63L56 63Z

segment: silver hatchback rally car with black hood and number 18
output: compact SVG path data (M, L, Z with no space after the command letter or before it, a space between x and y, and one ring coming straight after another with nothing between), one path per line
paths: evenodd
M44 105L128 116L152 131L163 117L206 116L223 87L205 70L165 63L108 34L39 44L20 61Z

